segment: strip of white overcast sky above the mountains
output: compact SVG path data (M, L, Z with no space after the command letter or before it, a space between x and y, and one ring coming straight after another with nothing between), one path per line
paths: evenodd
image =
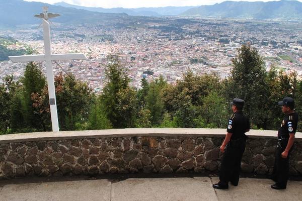
M101 7L101 8L141 8L141 7L167 7L167 6L202 6L213 5L224 2L223 0L25 0L27 2L45 2L54 4L57 2L66 2L68 4ZM240 0L232 0L239 2ZM257 0L244 0L247 2L256 2ZM260 1L260 0L258 0ZM262 2L271 2L272 0L262 0ZM302 2L302 0L298 0Z

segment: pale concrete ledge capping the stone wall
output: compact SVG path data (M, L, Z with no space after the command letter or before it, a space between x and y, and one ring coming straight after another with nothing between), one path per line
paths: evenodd
M222 137L225 129L188 129L188 128L134 128L91 131L38 132L0 135L0 143L29 142L45 140L88 139L98 137ZM251 138L276 138L278 131L251 130ZM302 141L302 133L295 134L297 141Z

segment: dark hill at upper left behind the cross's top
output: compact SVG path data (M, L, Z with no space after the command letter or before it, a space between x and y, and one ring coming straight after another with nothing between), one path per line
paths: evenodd
M81 24L112 22L129 18L127 14L91 12L39 2L25 2L22 0L0 0L0 26L14 27L24 24L40 24L41 20L33 16L41 13L43 6L48 6L49 12L59 13L61 15L51 20L52 22L58 23Z

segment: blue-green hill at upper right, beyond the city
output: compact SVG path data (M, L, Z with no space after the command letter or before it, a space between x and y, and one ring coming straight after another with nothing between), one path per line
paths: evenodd
M212 6L189 9L181 16L250 19L302 19L302 3L298 1L278 2L232 2L226 1Z

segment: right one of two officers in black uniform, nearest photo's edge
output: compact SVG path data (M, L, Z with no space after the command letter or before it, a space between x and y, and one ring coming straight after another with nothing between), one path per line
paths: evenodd
M271 185L273 189L285 189L288 180L289 155L294 142L294 134L297 129L298 114L294 112L294 100L285 97L278 102L285 114L278 131L278 145L275 153L275 164L272 179L276 182Z

